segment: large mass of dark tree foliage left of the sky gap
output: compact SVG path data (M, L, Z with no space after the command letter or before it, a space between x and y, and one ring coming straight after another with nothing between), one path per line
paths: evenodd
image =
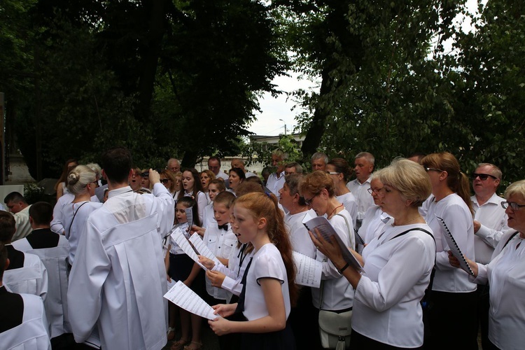
M13 65L29 57L25 88L0 89L34 176L116 145L141 167L237 153L258 92L276 93L270 82L286 70L279 27L259 1L9 1L0 13L20 19L5 36L20 38L7 46L20 51Z

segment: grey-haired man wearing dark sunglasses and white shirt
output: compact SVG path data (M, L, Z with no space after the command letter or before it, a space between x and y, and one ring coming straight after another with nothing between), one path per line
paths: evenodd
M472 189L475 195L472 200L474 215L474 249L476 262L488 264L494 248L500 241L502 231L508 229L507 214L500 203L505 200L496 195L501 181L501 170L490 163L480 163L471 175ZM478 318L481 324L482 347L489 349L489 286L477 286Z

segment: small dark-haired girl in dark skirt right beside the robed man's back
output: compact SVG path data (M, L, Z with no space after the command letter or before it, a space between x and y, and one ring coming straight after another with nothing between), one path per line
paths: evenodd
M168 273L167 280L170 283L176 281L183 281L186 286L190 287L198 295L206 293L204 290L204 270L195 263L184 251L176 244L173 235L185 235L189 236L188 233L188 219L186 218L186 209L193 208L193 223L200 225L199 216L196 210L197 203L192 197L181 197L177 201L175 208L175 217L178 224L174 225L172 234L170 235L170 244L165 264L166 271ZM169 330L168 338L174 337L175 335L175 304L169 305ZM195 314L190 314L188 311L179 308L179 314L181 316L181 339L177 340L172 345L172 350L181 349L200 349L202 342L200 339L200 329L202 325L202 318ZM171 333L171 334L170 334ZM190 342L191 335L191 342ZM190 344L186 346L186 344Z

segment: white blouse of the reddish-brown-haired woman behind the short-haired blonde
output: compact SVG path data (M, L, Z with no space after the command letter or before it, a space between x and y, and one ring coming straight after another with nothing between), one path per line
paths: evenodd
M432 290L449 293L464 293L476 290L475 283L468 279L463 269L452 267L449 262L450 250L444 239L444 228L437 219L444 220L461 253L470 260L475 260L474 253L474 225L472 215L461 197L452 193L439 202L430 203L426 215L426 222L434 232L436 242L436 269Z

